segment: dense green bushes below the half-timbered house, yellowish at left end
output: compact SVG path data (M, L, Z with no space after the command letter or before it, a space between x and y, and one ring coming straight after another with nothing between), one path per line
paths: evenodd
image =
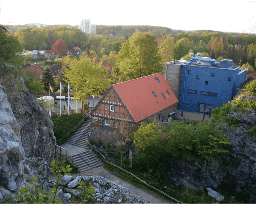
M167 125L149 124L134 133L137 147L136 159L142 165L156 168L168 159L184 160L188 155L194 158L214 158L228 153L228 137L214 126L213 122L196 125L175 121Z

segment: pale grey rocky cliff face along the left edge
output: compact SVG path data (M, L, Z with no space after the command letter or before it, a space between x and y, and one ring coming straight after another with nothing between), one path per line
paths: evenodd
M0 81L0 186L4 186L0 199L13 195L35 176L48 188L48 168L54 157L53 122L21 82L19 88L15 81Z

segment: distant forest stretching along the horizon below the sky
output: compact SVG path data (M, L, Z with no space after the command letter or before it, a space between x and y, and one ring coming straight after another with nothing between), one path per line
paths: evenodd
M233 59L234 65L255 69L256 35L225 33L212 30L178 31L157 26L103 26L97 25L97 34L83 33L77 26L52 25L46 27L6 26L18 37L24 50L51 49L58 39L63 39L72 50L78 46L94 51L99 58L106 59L112 66L114 55L122 43L136 30L155 35L161 63L188 58L188 53L201 52L204 57L217 61ZM115 52L115 53L113 53Z

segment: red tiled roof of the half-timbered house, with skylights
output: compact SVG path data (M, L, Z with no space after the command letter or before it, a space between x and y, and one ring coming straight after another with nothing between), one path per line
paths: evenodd
M155 80L156 77L160 82ZM162 73L121 82L114 84L113 87L136 123L178 102ZM156 93L157 97L152 91Z

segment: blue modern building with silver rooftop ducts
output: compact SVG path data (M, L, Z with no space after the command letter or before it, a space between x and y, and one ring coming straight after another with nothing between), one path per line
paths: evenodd
M163 76L180 101L178 109L200 112L222 106L238 94L237 86L246 79L246 69L233 67L233 60L217 62L209 57L194 57L190 61L164 63Z

